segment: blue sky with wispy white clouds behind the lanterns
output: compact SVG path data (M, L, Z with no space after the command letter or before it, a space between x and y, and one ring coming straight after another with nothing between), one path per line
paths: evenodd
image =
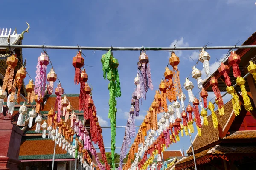
M17 27L17 32L26 29L26 21L30 24L29 33L25 34L25 45L72 45L76 46L126 46L126 47L168 47L173 46L210 46L235 45L244 42L256 30L256 6L253 0L2 0L0 28ZM238 45L241 45L239 42ZM35 79L37 58L41 49L23 49L23 57L27 58L27 71ZM74 85L74 68L72 58L76 50L47 50L58 78L66 93L79 93L79 85ZM223 57L227 50L209 50L212 70L218 68L216 59ZM108 81L102 75L100 62L105 51L83 51L85 67L89 75L89 84L93 86L93 100L97 113L101 117L101 125L110 125L108 119ZM117 99L117 126L126 125L131 105L131 94L134 91L134 77L137 73L139 51L114 51L119 60L119 76L122 96ZM147 51L151 65L154 90L163 77L164 68L169 59L169 52ZM180 57L180 80L192 71L198 51L178 51ZM202 63L197 68L202 69ZM48 71L50 66L48 67ZM205 78L205 77L203 77ZM26 83L29 78L26 78ZM196 86L196 80L190 78ZM55 84L56 87L56 84ZM194 94L198 92L195 87ZM187 91L183 90L187 96ZM140 115L154 98L154 91L148 91L147 100L140 105ZM213 95L212 95L213 97ZM211 97L211 98L212 98ZM227 99L226 99L227 100ZM187 100L186 100L187 101ZM136 125L143 120L140 116ZM122 145L124 128L117 129L116 147ZM103 129L105 147L110 147L110 129ZM192 135L194 137L195 134ZM188 149L189 137L181 138L169 150ZM107 150L110 151L110 150ZM120 150L116 149L116 153Z

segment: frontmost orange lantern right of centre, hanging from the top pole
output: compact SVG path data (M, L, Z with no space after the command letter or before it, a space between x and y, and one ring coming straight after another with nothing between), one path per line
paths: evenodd
M173 82L174 82L174 90L176 92L176 97L180 95L181 85L180 85L180 71L178 70L178 64L180 63L180 58L172 52L171 57L169 58L169 63L173 67Z

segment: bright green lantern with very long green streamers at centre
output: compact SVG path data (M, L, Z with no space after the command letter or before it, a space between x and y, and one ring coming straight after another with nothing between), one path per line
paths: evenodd
M110 81L108 85L109 89L109 113L108 117L111 122L111 159L112 166L115 167L115 145L116 145L116 97L121 96L121 87L120 80L117 67L119 65L118 60L114 58L111 50L109 50L106 54L102 55L102 70L103 77Z

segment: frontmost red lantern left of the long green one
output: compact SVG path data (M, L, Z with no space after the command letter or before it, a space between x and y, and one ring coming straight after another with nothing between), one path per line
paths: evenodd
M73 57L72 65L75 67L75 84L78 85L80 80L80 68L84 66L84 58L81 55L81 51L78 51L75 57Z

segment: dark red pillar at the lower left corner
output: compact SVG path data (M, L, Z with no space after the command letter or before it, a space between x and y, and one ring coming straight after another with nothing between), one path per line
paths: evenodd
M18 170L22 135L10 120L0 119L0 170Z

